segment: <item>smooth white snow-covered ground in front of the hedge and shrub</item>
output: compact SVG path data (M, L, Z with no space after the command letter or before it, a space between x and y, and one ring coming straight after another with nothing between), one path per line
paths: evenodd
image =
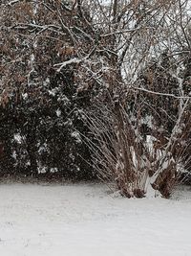
M0 255L190 256L191 189L126 199L100 184L1 184Z

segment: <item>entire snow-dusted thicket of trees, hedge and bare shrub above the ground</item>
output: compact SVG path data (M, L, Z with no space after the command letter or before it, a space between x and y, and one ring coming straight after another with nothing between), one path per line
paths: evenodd
M190 169L189 1L2 1L2 175L149 185Z

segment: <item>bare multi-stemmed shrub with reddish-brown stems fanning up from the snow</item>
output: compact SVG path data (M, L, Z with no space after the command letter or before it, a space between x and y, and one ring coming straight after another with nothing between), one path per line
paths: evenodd
M156 132L155 121L149 125L150 133L146 133L138 112L133 117L119 102L96 102L86 115L95 140L86 142L93 152L98 176L116 182L120 194L127 198L156 195L157 191L168 198L190 163L190 155L185 153L190 126L190 117L185 120L188 102L185 101L168 137Z

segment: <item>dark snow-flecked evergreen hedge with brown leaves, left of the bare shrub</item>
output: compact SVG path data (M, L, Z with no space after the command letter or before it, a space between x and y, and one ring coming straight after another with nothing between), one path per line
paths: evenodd
M59 3L35 7L32 1L2 6L0 142L4 150L0 175L95 176L88 163L89 149L81 139L82 134L88 136L81 112L91 95L77 95L80 84L74 81L75 65L60 72L53 67L75 55L59 18L61 12L62 21L69 21L73 13L68 7ZM71 22L84 26L82 20ZM24 23L29 25L19 25ZM39 33L38 26L49 24L54 24L53 30Z

